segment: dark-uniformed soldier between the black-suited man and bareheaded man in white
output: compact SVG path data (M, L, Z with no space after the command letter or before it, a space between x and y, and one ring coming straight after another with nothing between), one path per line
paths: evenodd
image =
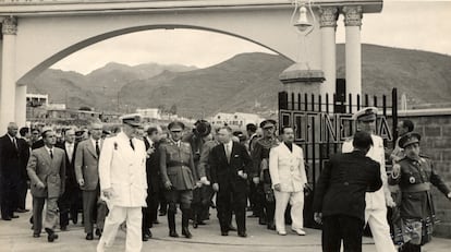
M260 123L264 136L259 139L251 153L254 173L253 182L257 185L257 199L255 202L256 214L259 216L258 223L267 225L268 229L276 230L275 211L276 200L271 189L271 177L269 175L269 151L278 146L279 141L275 135L276 121L268 119Z

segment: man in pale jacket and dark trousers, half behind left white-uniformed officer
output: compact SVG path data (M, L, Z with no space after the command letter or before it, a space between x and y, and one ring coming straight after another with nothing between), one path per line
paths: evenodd
M103 141L101 140L102 124L90 125L90 137L78 143L75 155L75 176L83 191L83 217L86 240L93 240L94 220L97 220L96 235L101 236L107 205L100 197L99 184L99 154ZM97 217L96 217L97 213Z

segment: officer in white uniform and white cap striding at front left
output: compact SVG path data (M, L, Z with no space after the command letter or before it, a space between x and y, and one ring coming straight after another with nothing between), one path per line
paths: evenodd
M112 245L119 226L126 220L125 251L139 252L142 240L142 207L146 206L146 147L135 139L141 117L122 117L122 132L106 139L99 159L99 179L102 197L109 214L105 220L103 233L97 251Z

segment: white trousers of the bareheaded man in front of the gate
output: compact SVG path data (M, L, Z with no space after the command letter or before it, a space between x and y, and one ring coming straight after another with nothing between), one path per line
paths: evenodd
M292 229L304 228L304 191L279 192L275 190L276 197L276 230L285 231L285 209L290 201Z

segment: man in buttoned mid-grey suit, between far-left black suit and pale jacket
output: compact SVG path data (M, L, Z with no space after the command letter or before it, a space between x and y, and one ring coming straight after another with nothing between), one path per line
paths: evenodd
M65 157L64 151L56 148L57 134L51 129L42 130L44 147L32 152L27 165L33 195L33 237L38 238L42 226L42 208L47 202L44 227L48 233L47 240L53 242L58 235L53 229L58 223L58 197L65 188Z

